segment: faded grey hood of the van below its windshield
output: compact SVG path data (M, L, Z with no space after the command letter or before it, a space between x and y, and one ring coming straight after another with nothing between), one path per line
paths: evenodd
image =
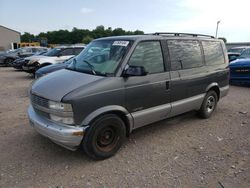
M69 92L103 78L63 69L39 78L32 85L31 93L60 102Z

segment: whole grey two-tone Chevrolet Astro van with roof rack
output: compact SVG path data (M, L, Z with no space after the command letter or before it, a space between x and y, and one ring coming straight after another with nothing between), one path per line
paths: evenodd
M55 143L105 159L139 127L193 110L209 118L228 90L222 40L186 33L107 37L35 81L28 116Z

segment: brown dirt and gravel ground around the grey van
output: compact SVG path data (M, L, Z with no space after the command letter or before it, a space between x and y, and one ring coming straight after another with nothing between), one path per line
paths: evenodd
M152 124L92 161L29 126L32 81L0 68L0 187L250 187L250 88L230 87L208 120L187 113Z

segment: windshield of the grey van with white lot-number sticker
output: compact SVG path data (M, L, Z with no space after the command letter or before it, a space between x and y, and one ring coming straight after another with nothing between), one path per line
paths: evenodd
M73 58L67 69L94 75L112 76L126 54L131 41L99 40L91 42Z

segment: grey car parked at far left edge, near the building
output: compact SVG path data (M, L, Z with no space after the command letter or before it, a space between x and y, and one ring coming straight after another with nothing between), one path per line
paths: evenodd
M46 52L45 47L24 47L14 51L0 54L0 65L11 66L12 62L19 58L29 57L39 52Z

